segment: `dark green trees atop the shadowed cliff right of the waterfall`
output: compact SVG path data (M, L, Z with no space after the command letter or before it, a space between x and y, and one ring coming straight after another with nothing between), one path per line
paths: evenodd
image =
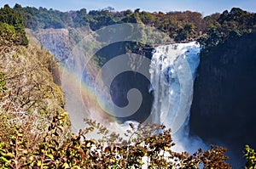
M223 14L212 14L204 18L207 24L206 34L199 39L208 52L212 47L224 43L230 37L241 37L256 31L256 14L248 13L241 8L225 10Z

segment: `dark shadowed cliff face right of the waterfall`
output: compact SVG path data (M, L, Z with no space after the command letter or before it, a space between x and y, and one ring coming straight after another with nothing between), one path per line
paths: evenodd
M197 73L190 134L224 145L242 164L244 145L256 148L256 34L231 37L202 54Z

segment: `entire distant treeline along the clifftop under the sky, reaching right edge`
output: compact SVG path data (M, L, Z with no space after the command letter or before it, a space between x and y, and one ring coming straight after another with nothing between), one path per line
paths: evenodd
M25 27L34 31L84 26L96 31L106 25L143 23L166 32L175 42L198 40L205 47L224 42L229 36L241 36L256 30L256 14L248 13L241 8L232 8L230 12L225 10L223 14L216 13L206 17L191 11L165 14L140 11L139 8L135 11L128 9L120 12L114 11L111 7L89 12L86 8L61 12L52 8L23 8L20 4L15 4L13 9L13 13L23 17ZM0 22L1 20L0 17Z

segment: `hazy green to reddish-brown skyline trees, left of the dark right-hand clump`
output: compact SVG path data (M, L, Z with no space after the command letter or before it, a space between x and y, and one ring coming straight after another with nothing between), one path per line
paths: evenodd
M33 30L89 25L90 29L95 31L107 25L140 23L164 31L176 41L183 41L200 36L200 31L203 31L204 27L202 15L190 11L163 14L140 12L139 8L134 12L131 10L114 12L113 8L104 8L87 12L82 8L79 11L62 13L46 8L20 8L18 4L15 5L14 10L23 16L25 26Z

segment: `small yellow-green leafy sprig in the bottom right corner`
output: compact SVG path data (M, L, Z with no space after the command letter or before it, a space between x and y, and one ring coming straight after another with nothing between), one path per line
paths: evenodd
M254 152L254 149L251 149L248 145L245 146L243 156L246 159L246 167L248 169L255 169L256 168L256 153Z

